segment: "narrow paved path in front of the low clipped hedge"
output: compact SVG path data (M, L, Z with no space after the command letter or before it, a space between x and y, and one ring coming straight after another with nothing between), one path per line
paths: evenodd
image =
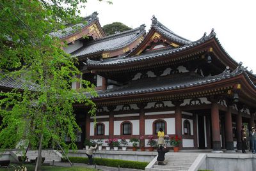
M69 163L65 163L65 162L55 162L54 166L58 166L58 167L70 167ZM83 163L74 163L74 166L76 167L87 167L87 168L95 168L94 165L86 165ZM97 169L100 169L102 171L141 171L138 169L133 169L133 168L118 168L118 167L105 167L105 166L100 166L100 165L96 165Z

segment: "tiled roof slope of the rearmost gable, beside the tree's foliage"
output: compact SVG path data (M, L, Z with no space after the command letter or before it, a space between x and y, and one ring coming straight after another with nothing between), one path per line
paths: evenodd
M70 36L73 33L76 33L77 29L83 29L84 27L91 24L93 21L98 20L97 17L98 13L95 11L92 13L92 15L88 15L87 17L83 18L83 21L86 21L86 24L79 23L74 26L67 27L61 31L56 31L50 33L51 36L58 37L60 39L66 38L67 36Z

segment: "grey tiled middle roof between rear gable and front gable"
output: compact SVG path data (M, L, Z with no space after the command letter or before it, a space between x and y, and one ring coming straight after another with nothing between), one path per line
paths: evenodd
M93 40L86 46L76 50L72 53L72 56L79 57L79 59L81 60L83 59L83 56L86 58L92 54L100 54L103 52L104 54L102 54L102 58L112 57L111 54L107 54L106 52L113 52L116 50L121 50L122 53L119 54L124 54L125 52L131 50L131 48L134 48L136 45L138 45L138 43L143 40L145 33L145 25L141 25L136 29L131 29L122 33L99 38L98 40ZM131 45L132 43L134 43L134 45L132 45L132 47L129 47L129 45Z

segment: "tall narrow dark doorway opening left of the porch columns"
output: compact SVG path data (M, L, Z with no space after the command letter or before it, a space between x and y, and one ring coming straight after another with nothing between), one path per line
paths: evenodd
M205 149L204 115L198 115L198 149Z

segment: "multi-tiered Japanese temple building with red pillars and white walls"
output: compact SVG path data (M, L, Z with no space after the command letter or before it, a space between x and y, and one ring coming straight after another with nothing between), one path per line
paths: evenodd
M157 139L163 128L166 135L182 138L180 149L241 149L242 124L255 126L256 75L228 55L214 29L191 41L153 16L148 33L141 25L105 36L96 12L84 20L80 31L52 33L78 58L83 75L77 77L90 80L99 94L92 97L96 126L88 108L74 104L82 129L79 148L85 138L142 136L140 146L147 148L148 136Z

